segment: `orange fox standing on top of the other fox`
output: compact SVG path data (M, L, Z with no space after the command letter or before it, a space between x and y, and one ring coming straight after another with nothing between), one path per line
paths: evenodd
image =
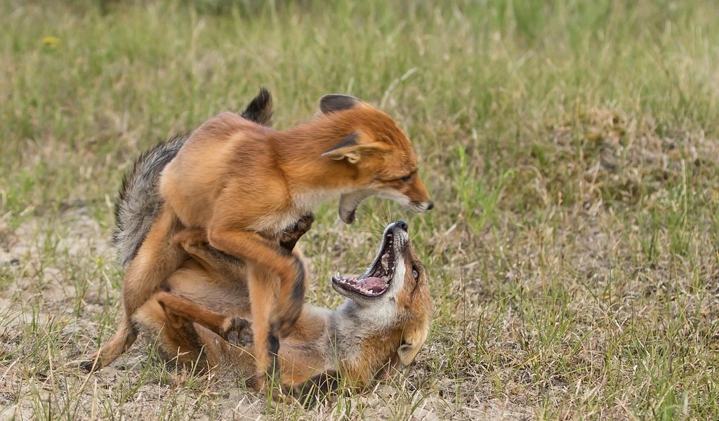
M188 258L173 236L200 229L211 247L247 264L261 389L262 377L275 371L279 339L290 334L305 294L301 259L278 245L280 233L336 196L344 223L354 221L357 206L370 195L416 213L434 207L413 147L390 116L341 94L323 96L319 108L316 118L284 131L219 114L153 172L155 211L144 218L150 226L142 227L147 231L135 241L137 249L126 251L132 257L122 281L124 316L86 369L106 366L132 346L132 316Z

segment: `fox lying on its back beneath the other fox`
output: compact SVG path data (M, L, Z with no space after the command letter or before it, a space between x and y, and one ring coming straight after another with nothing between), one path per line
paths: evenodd
M293 248L309 226L311 218L304 217L285 231L289 239L283 246ZM247 331L254 323L246 264L213 249L201 230L181 233L175 241L193 257L139 307L134 323L157 338L166 361L252 373ZM344 302L332 310L303 304L293 330L280 340L283 396L308 404L342 387L361 391L393 366L411 364L434 312L426 271L405 221L385 228L377 256L362 276L335 274L331 284Z

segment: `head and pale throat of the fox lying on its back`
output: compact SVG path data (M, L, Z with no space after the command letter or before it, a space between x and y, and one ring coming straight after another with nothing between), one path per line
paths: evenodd
M336 274L332 287L348 298L328 321L332 346L342 349L348 364L379 369L387 362L385 352L405 366L414 360L429 333L434 305L406 222L385 228L377 257L365 274L359 278ZM357 338L368 342L363 345Z

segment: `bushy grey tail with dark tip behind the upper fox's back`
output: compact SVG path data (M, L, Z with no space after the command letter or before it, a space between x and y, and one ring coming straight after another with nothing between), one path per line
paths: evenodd
M255 96L242 113L244 119L270 126L273 115L272 96L265 88ZM122 180L120 194L115 201L115 228L111 245L119 252L120 266L127 268L145 241L157 211L162 206L157 183L166 165L180 152L189 133L175 134L143 152L132 170Z

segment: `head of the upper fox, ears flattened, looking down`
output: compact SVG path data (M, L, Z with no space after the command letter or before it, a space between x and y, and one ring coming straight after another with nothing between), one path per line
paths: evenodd
M349 131L322 154L356 170L356 188L340 198L342 221L352 223L357 206L370 195L395 200L412 212L434 207L417 174L414 149L390 116L364 101L339 94L323 96L319 108L323 114L338 114L337 126Z

